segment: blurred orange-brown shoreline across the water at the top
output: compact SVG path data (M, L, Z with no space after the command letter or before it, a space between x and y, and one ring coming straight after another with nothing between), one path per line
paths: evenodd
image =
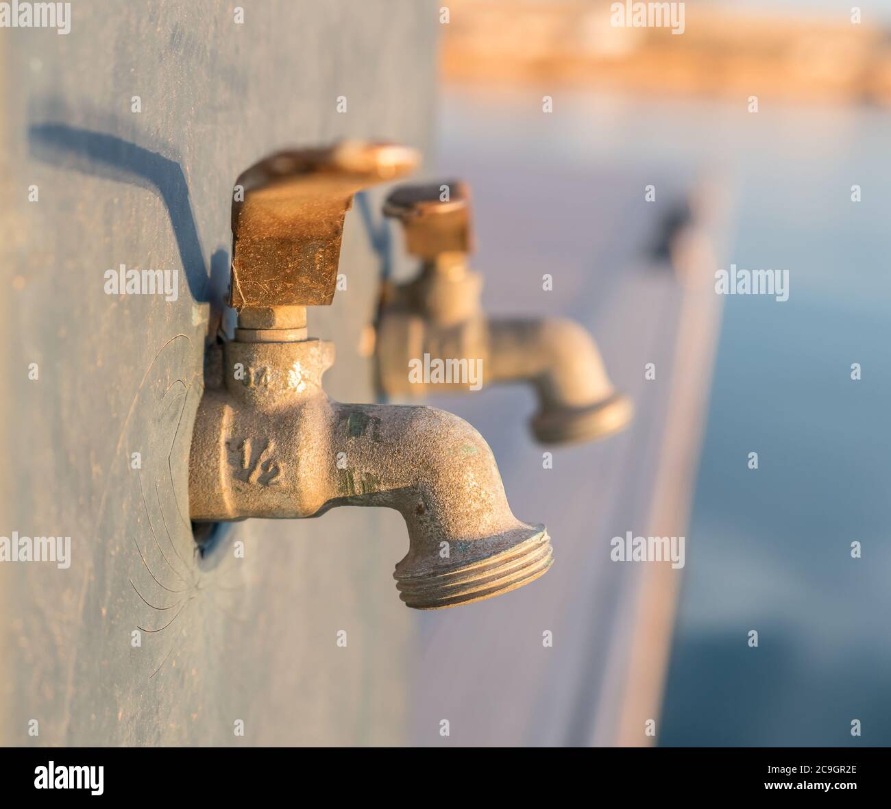
M685 4L670 27L614 27L608 2L454 0L442 26L449 82L560 85L891 104L891 37L851 10Z

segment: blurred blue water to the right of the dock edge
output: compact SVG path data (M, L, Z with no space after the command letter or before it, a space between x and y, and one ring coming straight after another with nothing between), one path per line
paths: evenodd
M726 298L660 743L887 745L889 116L773 118L730 260L788 268L789 301Z

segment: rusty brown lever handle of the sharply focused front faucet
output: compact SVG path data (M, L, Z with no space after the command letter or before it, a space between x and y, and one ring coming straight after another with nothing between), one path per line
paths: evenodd
M343 141L281 151L238 178L232 209L229 305L242 309L329 306L353 194L418 163L396 143Z

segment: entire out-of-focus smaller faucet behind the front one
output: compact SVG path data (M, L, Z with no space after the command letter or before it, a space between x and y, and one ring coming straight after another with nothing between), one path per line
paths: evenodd
M634 405L613 388L597 345L580 325L563 318L496 319L483 311L482 278L468 264L473 236L466 184L400 186L384 214L404 225L406 249L421 259L421 269L410 282L384 284L375 339L382 393L425 396L527 381L538 395L531 428L542 443L592 440L625 428ZM423 378L410 373L421 361ZM465 373L475 368L480 379Z

